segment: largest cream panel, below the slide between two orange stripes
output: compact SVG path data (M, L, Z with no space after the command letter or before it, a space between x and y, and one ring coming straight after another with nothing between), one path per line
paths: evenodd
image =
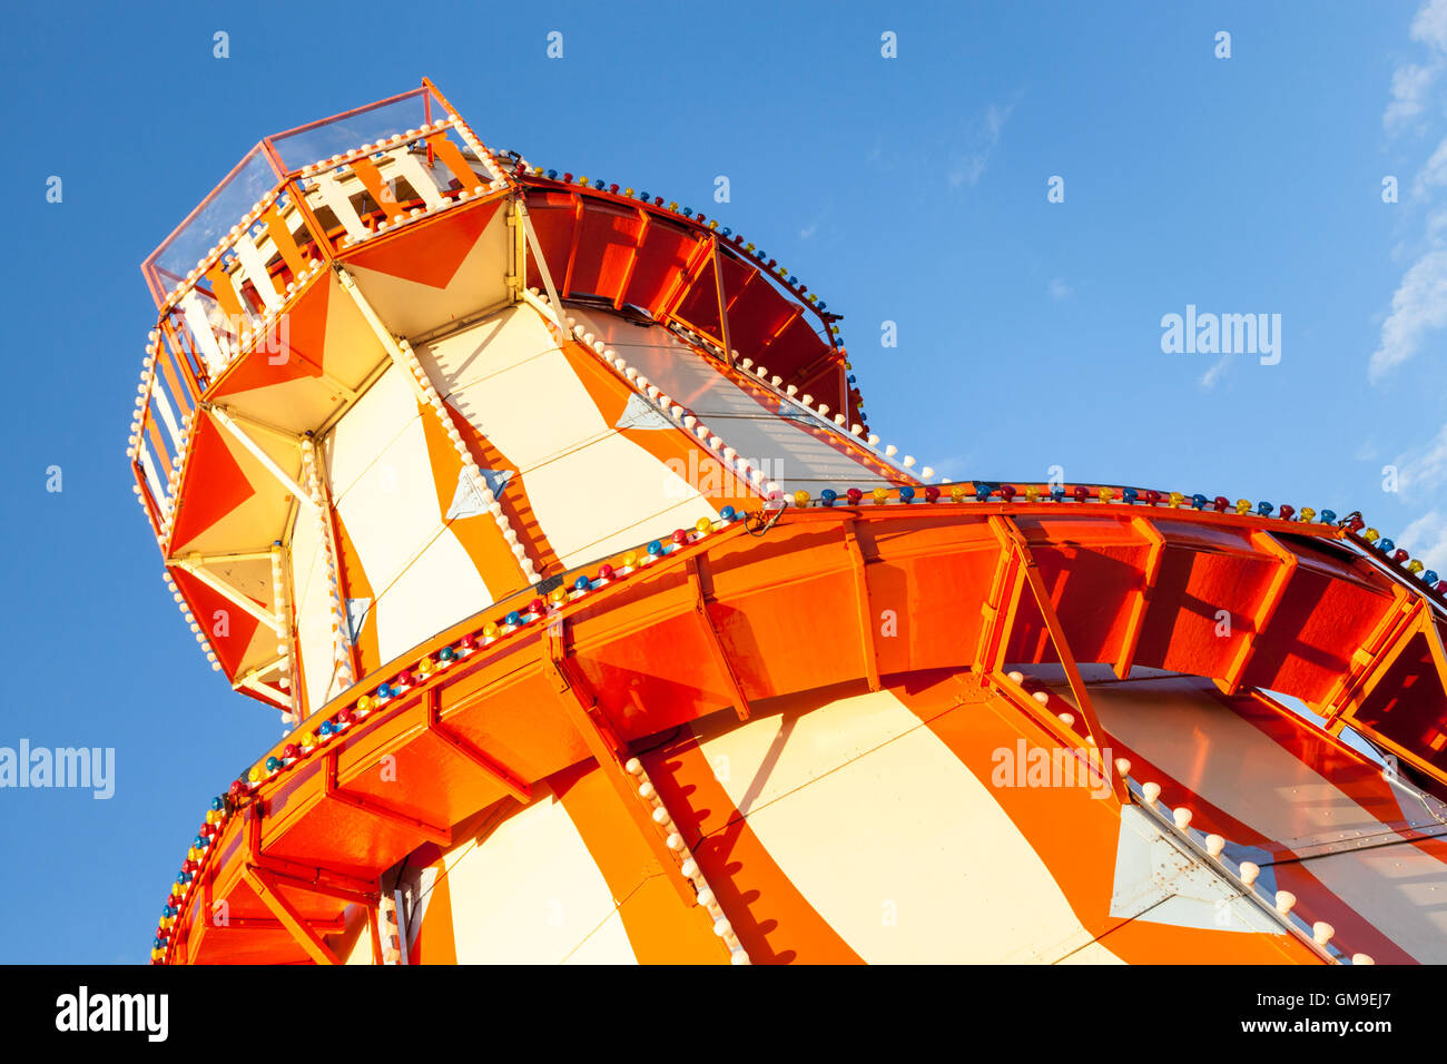
M865 961L1055 961L1091 941L985 785L890 692L703 751L728 756L750 828Z

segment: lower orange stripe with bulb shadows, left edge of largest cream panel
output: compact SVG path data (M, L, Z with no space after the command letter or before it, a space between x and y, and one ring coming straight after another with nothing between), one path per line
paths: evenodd
M642 760L755 964L861 963L768 856L696 738Z

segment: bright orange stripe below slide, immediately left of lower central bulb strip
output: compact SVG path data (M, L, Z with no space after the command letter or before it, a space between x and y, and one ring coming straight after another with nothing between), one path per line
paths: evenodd
M708 912L680 902L679 892L664 879L663 867L595 761L564 769L548 779L548 786L603 873L640 963L722 964L728 960L728 951L713 937Z

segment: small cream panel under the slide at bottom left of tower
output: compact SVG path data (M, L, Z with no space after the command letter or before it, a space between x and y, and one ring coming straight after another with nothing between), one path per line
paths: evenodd
M634 961L602 925L614 898L560 802L534 789L531 805L504 821L447 873L453 937L463 964ZM589 938L601 935L596 942ZM579 947L583 947L579 950Z

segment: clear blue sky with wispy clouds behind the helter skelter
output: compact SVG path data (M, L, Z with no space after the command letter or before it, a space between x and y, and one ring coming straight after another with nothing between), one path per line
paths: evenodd
M1447 572L1447 0L680 7L61 3L0 42L0 746L116 748L110 801L0 790L0 961L143 960L205 802L279 735L132 498L139 262L260 136L424 74L491 146L767 248L922 463L1362 510ZM1279 363L1163 353L1188 304L1279 314Z

